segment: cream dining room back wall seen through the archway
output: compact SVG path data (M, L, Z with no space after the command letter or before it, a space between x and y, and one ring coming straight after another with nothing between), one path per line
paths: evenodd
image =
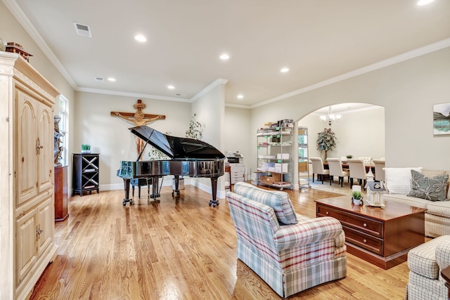
M322 157L317 150L317 133L329 128L316 113L300 119L299 126L308 128L309 157ZM385 157L385 109L373 106L364 110L344 113L339 122L331 124L336 136L335 149L328 151L328 157Z

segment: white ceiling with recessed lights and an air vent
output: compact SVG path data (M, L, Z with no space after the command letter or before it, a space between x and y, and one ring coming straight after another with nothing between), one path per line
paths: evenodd
M39 33L74 89L136 98L194 100L226 79L226 105L255 107L421 47L450 46L449 0L3 1ZM89 25L92 38L73 22ZM228 61L219 60L224 52Z

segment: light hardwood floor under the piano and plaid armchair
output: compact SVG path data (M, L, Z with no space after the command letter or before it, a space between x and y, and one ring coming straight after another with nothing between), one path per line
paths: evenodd
M314 199L337 195L286 191L310 217ZM192 185L176 200L163 187L160 203L142 194L126 207L122 190L72 197L69 218L56 223L57 259L31 299L280 299L236 259L226 200L209 207L210 195ZM406 263L383 270L347 254L347 268L346 278L288 299L404 299Z

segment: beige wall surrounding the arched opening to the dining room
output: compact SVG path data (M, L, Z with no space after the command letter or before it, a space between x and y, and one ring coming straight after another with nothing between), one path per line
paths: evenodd
M450 169L450 136L433 136L432 105L449 102L450 48L352 77L252 110L252 126L301 119L337 103L385 107L387 167ZM361 143L366 137L361 137ZM250 141L256 145L256 137ZM356 152L353 153L356 155ZM252 162L256 162L253 154Z

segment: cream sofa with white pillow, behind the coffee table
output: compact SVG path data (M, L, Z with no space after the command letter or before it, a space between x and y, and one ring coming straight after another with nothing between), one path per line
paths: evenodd
M415 185L415 181L411 176L411 169L418 171L427 178L436 178L435 176L445 178L450 174L450 171L434 171L422 168L384 168L388 193L383 196L383 199L428 209L425 212L425 236L439 237L441 235L450 235L449 181L447 180L445 190L442 192L446 200L431 201L420 197L411 197L409 193L411 193ZM421 196L427 198L429 196L428 192L429 190L425 190L425 193Z

